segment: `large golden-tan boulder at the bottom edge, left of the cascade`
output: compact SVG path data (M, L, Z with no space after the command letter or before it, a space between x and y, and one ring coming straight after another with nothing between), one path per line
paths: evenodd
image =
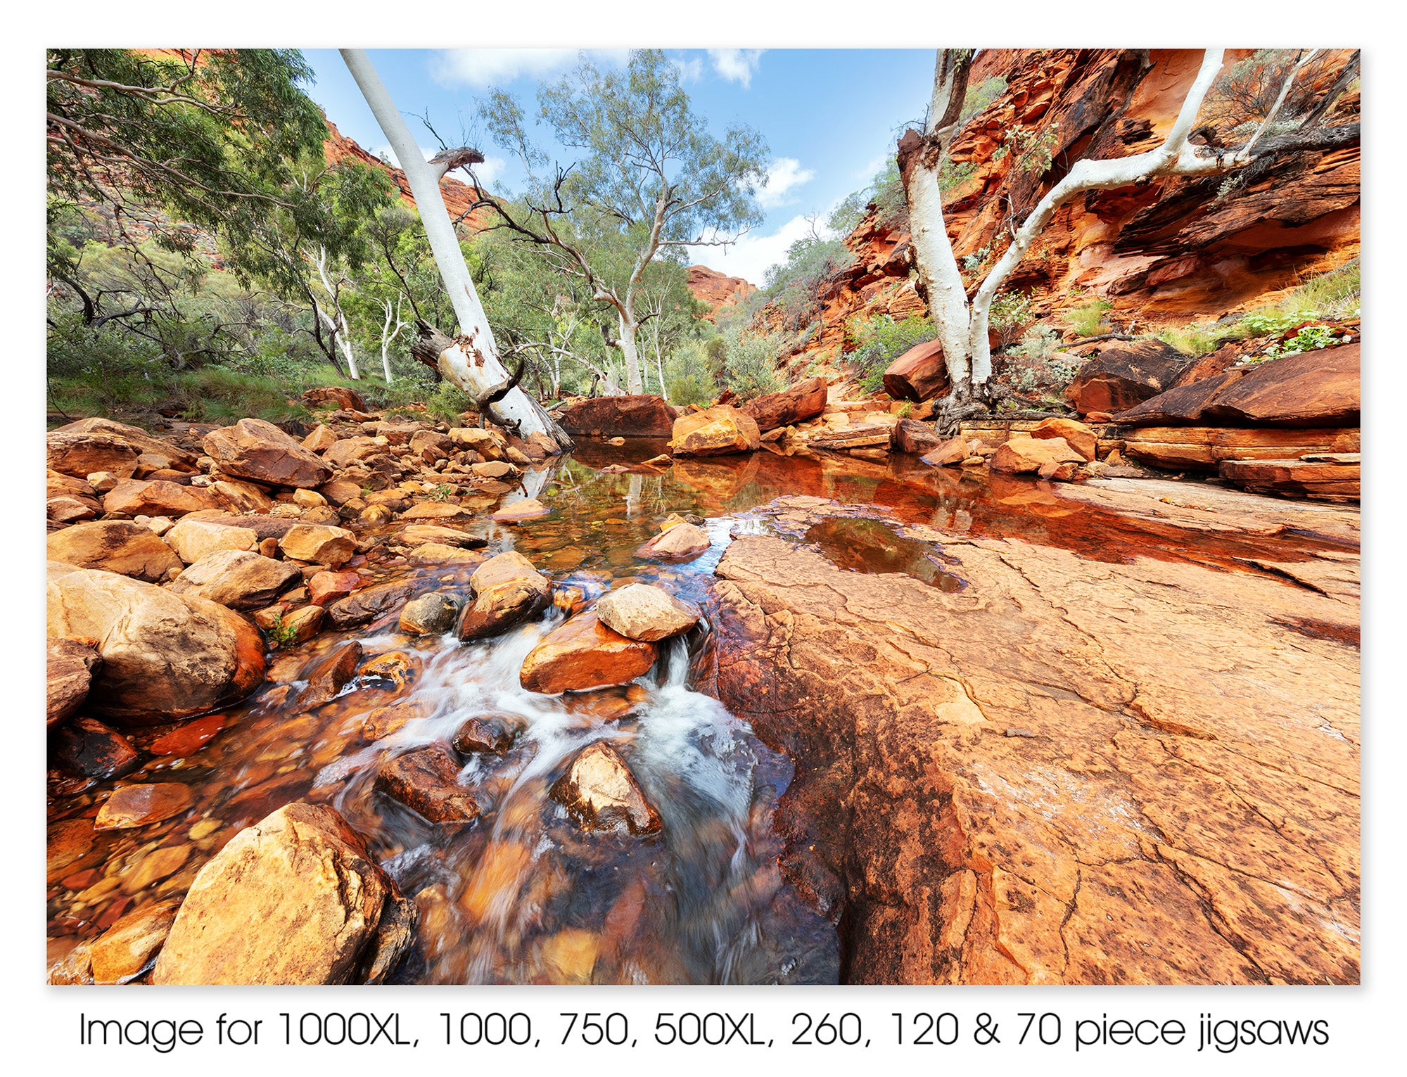
M414 904L342 815L287 804L200 870L152 983L380 983L414 924Z

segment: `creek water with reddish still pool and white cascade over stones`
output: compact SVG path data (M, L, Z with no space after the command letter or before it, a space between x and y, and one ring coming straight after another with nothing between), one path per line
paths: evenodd
M874 508L874 519L833 519L791 537L837 565L906 572L947 591L967 586L941 551L895 526L933 524L972 536L1019 536L1092 560L1133 553L1234 567L1265 553L1251 538L1159 529L1061 501L1027 479L961 478L912 461L889 465L757 453L677 461L656 472L611 474L609 463L660 451L637 441L598 444L529 474L522 494L554 512L521 527L477 519L467 530L485 553L516 548L590 602L623 582L661 582L706 609L708 581L739 531L787 522L750 510L784 495L819 495ZM712 548L677 567L642 561L636 548L671 512L705 519ZM390 530L390 529L388 529ZM1318 546L1278 538L1275 557ZM467 568L411 567L373 553L373 582L414 576L419 591L467 592ZM183 782L191 808L139 830L106 831L76 870L51 880L51 948L91 938L127 910L180 896L198 869L241 828L293 800L336 807L367 838L374 858L419 910L416 943L402 983L834 983L834 928L782 879L778 800L791 780L787 758L763 745L718 700L692 690L712 661L706 621L661 647L656 668L629 689L542 696L519 686L525 655L566 616L488 641L407 637L394 610L349 633L322 633L274 657L269 683L238 707L179 727L135 731L153 752L117 782L55 790L51 825L91 817L117 785ZM298 713L310 665L356 638L366 657L400 651L412 679L402 688L353 681L332 702ZM367 718L390 703L425 717L370 740ZM383 711L384 713L384 711ZM515 730L498 756L463 756L460 783L484 814L473 824L435 825L374 787L387 755L447 744L463 721L488 716ZM611 740L663 818L650 837L584 832L550 797L575 754Z

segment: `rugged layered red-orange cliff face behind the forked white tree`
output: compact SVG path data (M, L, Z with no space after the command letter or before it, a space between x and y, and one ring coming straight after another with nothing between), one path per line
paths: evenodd
M1231 52L1230 60L1248 55ZM1330 79L1346 53L1331 55ZM954 253L976 259L975 290L1002 249L1005 229L1079 157L1121 157L1166 135L1202 60L1197 49L989 49L971 86L1002 76L1006 90L972 117L951 159L971 173L944 200ZM1327 125L1356 122L1359 96L1345 94ZM1017 173L1002 152L1013 128L1051 132L1051 167ZM1067 202L1009 278L1031 292L1050 321L1102 297L1110 319L1137 330L1209 321L1273 298L1359 253L1359 148L1300 150L1259 170L1165 179ZM848 315L924 314L910 284L905 225L870 214L847 236L855 263L822 292L820 350L834 353ZM1074 292L1074 294L1072 294Z

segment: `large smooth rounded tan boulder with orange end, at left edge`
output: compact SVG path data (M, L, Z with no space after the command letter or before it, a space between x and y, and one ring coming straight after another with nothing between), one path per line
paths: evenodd
M198 714L263 682L263 641L236 613L113 572L48 567L48 634L97 640L86 709L146 725Z

